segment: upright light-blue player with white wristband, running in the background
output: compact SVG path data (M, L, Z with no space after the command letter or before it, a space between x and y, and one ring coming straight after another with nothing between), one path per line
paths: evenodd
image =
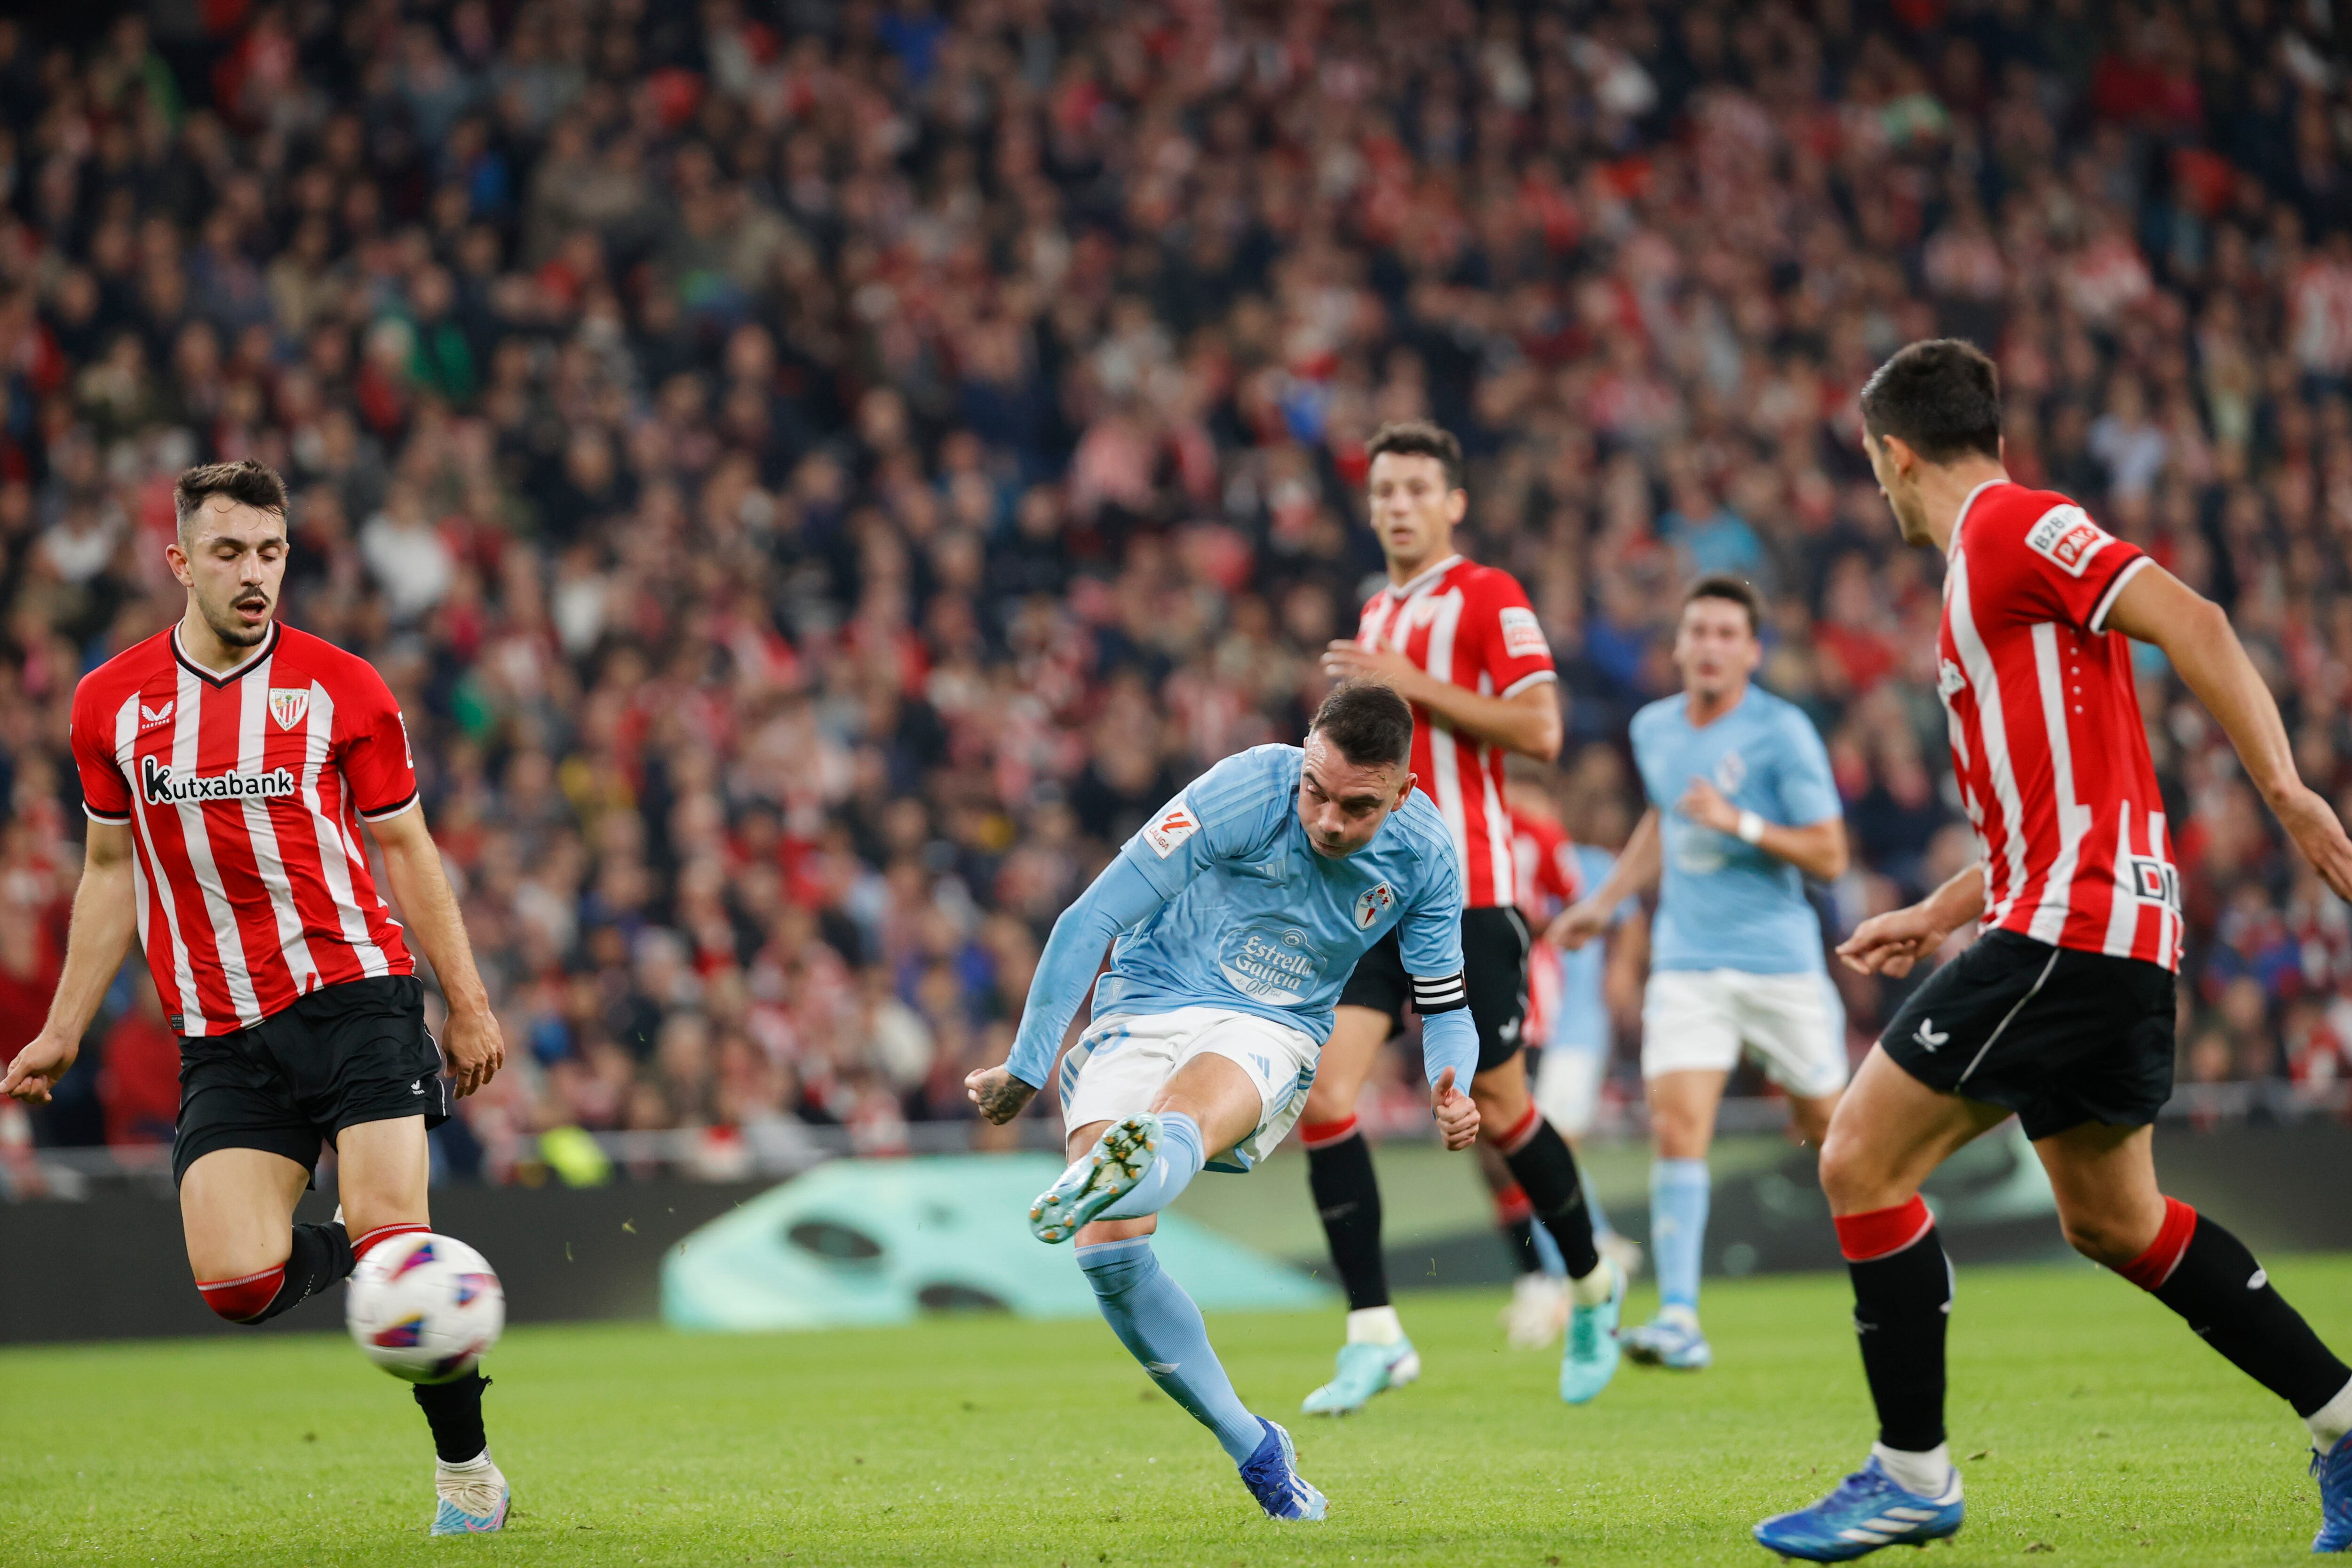
M1625 1354L1679 1371L1715 1359L1698 1328L1708 1147L1740 1051L1788 1091L1797 1133L1813 1145L1846 1084L1846 1011L1804 898L1806 877L1830 882L1846 870L1846 825L1813 722L1748 679L1764 658L1759 616L1755 588L1731 576L1698 578L1684 592L1682 696L1632 717L1649 811L1606 882L1550 931L1576 950L1625 898L1658 884L1642 997L1658 1316L1625 1333Z

